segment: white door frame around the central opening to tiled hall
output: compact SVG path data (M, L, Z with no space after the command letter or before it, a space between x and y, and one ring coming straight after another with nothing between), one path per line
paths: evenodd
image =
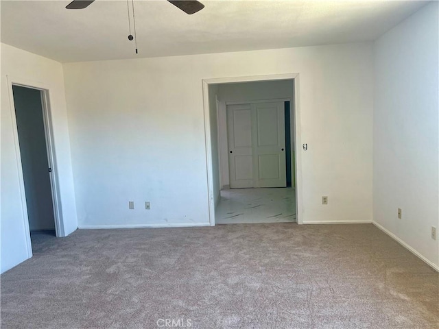
M213 191L213 160L211 140L211 118L209 108L209 84L229 84L237 82L261 82L275 80L294 80L294 101L291 102L292 115L290 125L294 129L294 151L295 178L296 178L296 220L302 224L303 202L302 202L302 154L299 145L302 145L300 131L300 82L299 73L285 73L274 75L253 75L248 77L219 77L202 80L203 107L204 107L204 139L206 142L206 172L207 172L207 194L209 205L209 223L215 226L215 193Z

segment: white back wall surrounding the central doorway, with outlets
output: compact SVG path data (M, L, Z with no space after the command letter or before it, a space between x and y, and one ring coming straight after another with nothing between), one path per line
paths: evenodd
M209 225L202 79L281 73L300 75L303 220L371 221L372 71L370 44L64 64L80 227Z

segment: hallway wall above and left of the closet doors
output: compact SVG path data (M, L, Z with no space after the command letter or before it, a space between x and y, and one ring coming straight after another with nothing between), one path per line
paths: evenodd
M264 82L245 82L235 84L219 84L219 140L221 154L222 187L230 184L228 172L228 136L226 102L230 101L257 101L264 99L291 99L293 101L293 80L274 80ZM291 106L292 110L292 106Z

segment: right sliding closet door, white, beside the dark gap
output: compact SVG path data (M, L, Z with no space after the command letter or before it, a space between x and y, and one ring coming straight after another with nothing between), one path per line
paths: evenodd
M253 187L285 187L284 103L254 103L251 108Z

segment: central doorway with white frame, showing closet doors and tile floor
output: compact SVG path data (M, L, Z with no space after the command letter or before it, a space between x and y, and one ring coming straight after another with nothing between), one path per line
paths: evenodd
M228 98L224 97L225 94L222 91L222 88L226 86L229 90ZM257 88L254 88L255 86ZM285 86L287 86L287 89L285 89ZM232 220L227 219L227 221L230 223L274 221L297 221L301 223L301 168L298 165L300 164L300 154L297 154L297 145L300 145L300 125L296 125L299 120L298 74L203 80L203 90L211 226L215 225L216 210L224 210L224 201L241 207L238 211L232 209L234 207L229 207L230 213L227 215ZM229 98L232 100L228 101ZM264 137L266 141L257 140L259 133L255 131L258 128L257 126L246 127L248 124L245 123L246 117L254 118L254 115L257 115L257 108L259 107L257 103L261 104L260 119L264 119L263 121L270 126L263 127L263 130L261 130L261 133L268 138ZM236 112L237 115L235 116L233 112ZM221 127L221 122L226 122L229 128L230 117L233 116L235 116L233 119L238 120L238 126L242 126L235 130L233 123L231 124L232 130L242 135L238 136L240 141L237 145L242 144L242 146L245 146L250 143L244 143L243 141L252 141L254 145L262 143L269 146L268 144L270 144L270 147L273 146L276 150L265 150L261 147L261 151L268 151L268 156L265 156L262 152L260 157L259 151L254 150L254 145L250 148L249 145L246 145L248 149L245 149L246 147L240 150L234 149L233 147L237 145L235 145L236 141L233 141L232 144L229 143L230 137L233 139L233 136L230 136L230 129L226 131L224 126ZM286 125L284 121L288 121L289 125ZM272 129L273 127L276 127L276 129ZM245 131L247 133L242 134ZM253 134L248 132L253 132ZM280 137L280 135L282 136ZM290 138L287 138L287 136ZM271 142L265 143L268 140L272 142L276 140L276 143L274 143L276 145ZM259 146L265 145L258 145L257 147ZM253 149L250 150L251 148ZM242 154L243 156L239 158L241 167L229 166L229 162L233 164L233 160L229 161L230 154L234 154L235 150L237 156L241 156L240 151L244 151L244 153L247 151L247 154ZM287 151L291 154L289 157L285 157ZM256 156L249 156L250 154ZM254 162L258 162L256 166ZM259 170L257 164L265 166L263 171L259 172L263 175L263 178L268 179L265 186L258 184L258 182L257 184L252 182L255 178L252 171L255 167L257 171ZM242 178L246 178L244 183L248 186L236 186L234 184L234 169L236 169L235 173L239 173ZM256 180L261 182L261 177L258 178L257 176ZM294 188L267 188L274 186L294 186ZM272 209L268 210L270 207ZM246 216L248 218L243 220L242 218ZM266 221L261 216L265 216ZM250 217L251 220L249 220ZM270 218L267 219L267 217ZM222 223L222 219L217 217L217 223Z

